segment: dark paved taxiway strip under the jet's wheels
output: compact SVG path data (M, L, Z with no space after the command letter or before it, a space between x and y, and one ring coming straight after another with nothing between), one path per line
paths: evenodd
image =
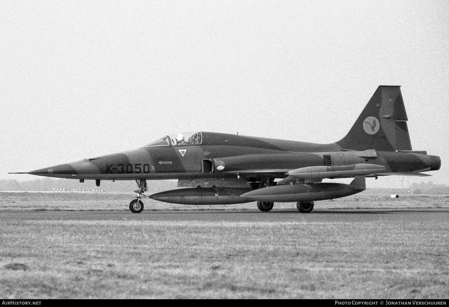
M140 221L205 221L205 222L361 222L407 219L449 220L449 209L396 210L315 210L310 214L297 211L0 211L0 223L6 220L140 220Z

